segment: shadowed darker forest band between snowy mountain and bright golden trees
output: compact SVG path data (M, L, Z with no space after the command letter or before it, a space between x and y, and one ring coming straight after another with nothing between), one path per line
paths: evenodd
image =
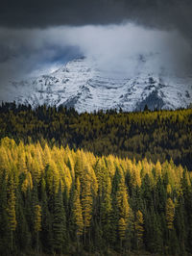
M78 114L74 109L5 103L0 107L0 138L44 141L156 163L173 159L192 169L192 109ZM29 139L31 138L31 139Z

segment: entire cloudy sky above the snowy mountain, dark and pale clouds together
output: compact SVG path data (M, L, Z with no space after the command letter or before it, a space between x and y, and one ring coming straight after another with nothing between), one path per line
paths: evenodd
M191 17L191 0L7 0L0 8L0 87L78 56L131 72L132 58L152 52L160 56L156 69L190 69Z

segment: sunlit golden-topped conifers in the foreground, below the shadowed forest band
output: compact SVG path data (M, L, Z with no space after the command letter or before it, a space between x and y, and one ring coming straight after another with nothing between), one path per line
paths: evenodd
M191 181L172 161L96 157L5 138L0 254L191 255Z

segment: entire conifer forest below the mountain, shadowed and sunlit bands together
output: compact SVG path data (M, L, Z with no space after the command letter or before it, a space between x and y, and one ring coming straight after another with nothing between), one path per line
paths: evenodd
M0 255L192 255L192 110L0 114Z

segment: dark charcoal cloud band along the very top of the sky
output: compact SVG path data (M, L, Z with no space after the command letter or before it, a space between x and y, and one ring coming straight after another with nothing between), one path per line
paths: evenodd
M0 24L20 28L133 19L150 26L178 26L187 30L191 14L191 0L7 0L1 3Z

